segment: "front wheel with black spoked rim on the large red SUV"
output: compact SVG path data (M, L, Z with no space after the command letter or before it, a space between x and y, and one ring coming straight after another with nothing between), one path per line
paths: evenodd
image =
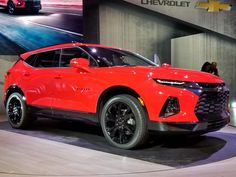
M100 119L103 134L113 146L134 149L147 139L147 114L131 95L117 95L104 105Z

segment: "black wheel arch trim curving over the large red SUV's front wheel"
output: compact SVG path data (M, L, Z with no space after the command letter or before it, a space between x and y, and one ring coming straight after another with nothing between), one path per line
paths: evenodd
M141 98L141 96L135 90L127 86L112 86L112 87L107 88L106 90L102 92L97 102L97 117L99 121L100 121L101 110L106 104L106 102L112 97L116 95L120 95L120 94L128 94L137 99ZM145 104L143 104L142 106L148 115Z

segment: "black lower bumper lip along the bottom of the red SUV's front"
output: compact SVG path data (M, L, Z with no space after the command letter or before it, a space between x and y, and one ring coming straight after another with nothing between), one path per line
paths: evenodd
M150 131L164 132L165 134L194 134L208 133L223 128L230 122L230 114L209 118L199 122L148 122Z

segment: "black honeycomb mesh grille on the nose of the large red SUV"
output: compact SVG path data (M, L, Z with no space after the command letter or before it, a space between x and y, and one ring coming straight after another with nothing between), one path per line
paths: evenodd
M228 110L229 91L205 91L200 95L195 114L219 114Z

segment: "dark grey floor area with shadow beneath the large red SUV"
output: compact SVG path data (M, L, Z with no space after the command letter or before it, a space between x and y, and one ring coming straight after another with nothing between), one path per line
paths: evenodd
M236 156L236 134L224 132L192 138L152 135L145 147L122 150L106 142L100 127L82 122L39 119L28 130L12 129L3 122L0 129L171 167L201 165Z

